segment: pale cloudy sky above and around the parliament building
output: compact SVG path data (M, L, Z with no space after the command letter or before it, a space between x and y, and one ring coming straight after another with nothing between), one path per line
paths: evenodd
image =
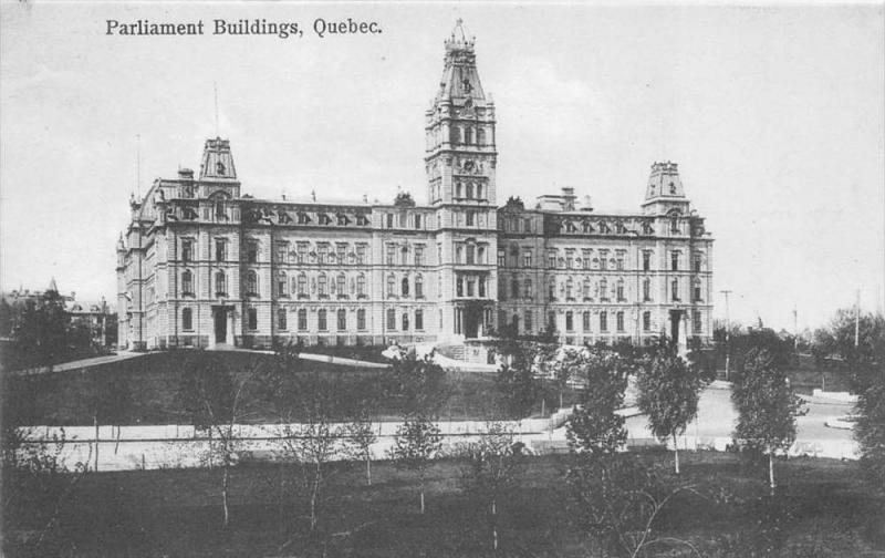
M319 39L315 18L377 35ZM499 199L574 186L638 210L654 161L680 165L717 241L731 318L792 329L881 308L885 25L881 6L435 3L49 4L2 0L2 288L115 300L118 232L142 193L231 140L257 197L426 199L424 111L457 18L498 108ZM264 18L301 39L107 37L105 20ZM716 297L716 316L725 316Z

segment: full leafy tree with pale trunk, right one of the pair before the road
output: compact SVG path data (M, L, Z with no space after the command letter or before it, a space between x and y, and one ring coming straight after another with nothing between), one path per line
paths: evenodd
M731 391L738 410L735 438L739 447L768 454L769 486L774 493L774 452L795 440L795 418L804 414L802 400L790 388L787 372L767 349L750 350Z

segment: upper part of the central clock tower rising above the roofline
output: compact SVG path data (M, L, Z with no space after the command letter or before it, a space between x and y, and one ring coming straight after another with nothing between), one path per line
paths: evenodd
M426 113L427 202L434 206L496 205L494 103L479 81L473 43L458 20Z

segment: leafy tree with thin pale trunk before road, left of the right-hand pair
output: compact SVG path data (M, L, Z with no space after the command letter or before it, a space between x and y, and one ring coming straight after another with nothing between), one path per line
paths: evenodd
M674 464L679 474L677 436L698 414L700 372L670 351L659 352L638 376L639 410L648 415L652 433L673 440Z

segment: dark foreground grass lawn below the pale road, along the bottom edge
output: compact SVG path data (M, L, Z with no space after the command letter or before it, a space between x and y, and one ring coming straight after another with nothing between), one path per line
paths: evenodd
M571 458L531 457L523 465L517 487L499 502L498 556L587 556L564 480ZM658 452L643 458L669 466L671 456ZM657 535L690 540L704 556L885 551L885 498L864 482L855 463L779 462L781 489L773 503L764 497L764 469L732 454L686 452L683 463L685 482L705 496L686 493L671 500ZM414 473L376 463L369 487L362 466L340 465L329 476L320 535L313 539L306 534L299 477L280 465L235 469L227 530L221 528L219 471L88 474L35 555L321 556L325 550L326 556L491 556L487 506L475 490L465 489L466 471L462 461L435 462L427 513L420 515ZM25 556L23 541L31 537L33 549L33 537L45 525L45 508L21 504L29 502L24 497L6 509L7 556ZM689 556L686 547L680 550L646 556Z

